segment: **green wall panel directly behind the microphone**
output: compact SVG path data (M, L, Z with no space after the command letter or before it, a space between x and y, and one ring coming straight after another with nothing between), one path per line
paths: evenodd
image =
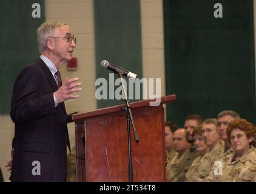
M111 72L99 65L103 59L143 78L140 1L95 0L94 15L96 79L105 78L109 85ZM118 76L115 75L115 78ZM102 108L122 103L102 99L97 101L97 106Z

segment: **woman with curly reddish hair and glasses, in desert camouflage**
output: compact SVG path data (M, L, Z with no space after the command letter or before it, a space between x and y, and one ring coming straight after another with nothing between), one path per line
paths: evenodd
M227 127L234 153L221 160L206 181L253 181L256 177L255 127L246 119L235 119Z

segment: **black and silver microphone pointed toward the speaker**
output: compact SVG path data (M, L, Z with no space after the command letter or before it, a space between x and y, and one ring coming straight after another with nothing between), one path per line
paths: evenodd
M113 64L109 63L109 61L107 61L107 60L101 61L101 67L103 69L108 69L117 74L121 73L122 75L126 76L127 78L135 79L138 77L138 75L136 75L135 73L129 72L129 71L123 69L122 67L119 67L118 65L113 65Z

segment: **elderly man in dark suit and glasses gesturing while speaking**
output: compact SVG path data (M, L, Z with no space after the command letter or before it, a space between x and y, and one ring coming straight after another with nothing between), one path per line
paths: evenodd
M66 181L70 149L64 101L81 89L78 78L62 84L59 68L72 59L76 38L64 22L38 28L41 56L25 67L13 87L10 116L15 122L11 181Z

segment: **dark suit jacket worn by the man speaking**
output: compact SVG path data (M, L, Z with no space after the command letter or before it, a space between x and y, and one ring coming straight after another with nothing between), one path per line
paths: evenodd
M10 113L15 122L11 181L66 180L67 113L64 103L55 107L56 90L42 59L25 67L15 81Z

